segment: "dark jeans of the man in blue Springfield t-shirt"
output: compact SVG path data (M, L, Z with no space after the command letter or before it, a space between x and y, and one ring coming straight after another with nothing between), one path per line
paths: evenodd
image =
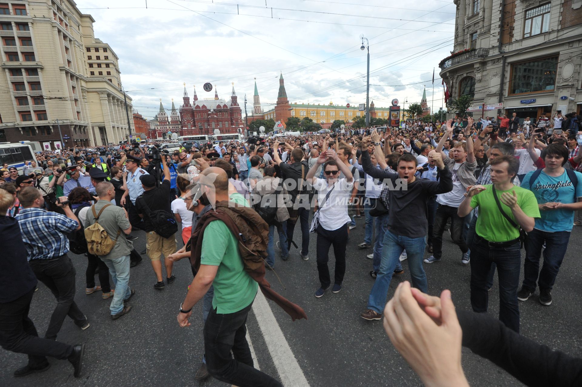
M566 255L569 240L569 231L545 232L533 229L527 234L526 242L524 243L526 247L526 260L523 263L524 289L534 292L535 282L537 281L540 290L552 290L560 265L562 265L564 255ZM546 243L544 264L540 271L540 255L542 254L544 242Z

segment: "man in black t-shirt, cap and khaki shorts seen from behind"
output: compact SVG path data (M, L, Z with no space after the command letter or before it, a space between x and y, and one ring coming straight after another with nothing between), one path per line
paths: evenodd
M166 162L166 155L162 155L162 163ZM154 226L150 221L148 214L151 211L164 210L172 214L170 207L170 171L169 168L164 168L164 180L159 187L155 186L155 177L152 175L140 176L141 186L143 186L144 193L136 199L137 214L144 219L141 229L145 231L147 242L145 243L145 250L151 260L151 266L154 269L155 276L158 282L155 283L154 288L157 290L164 289L164 280L162 278L162 263L160 258L164 254L164 265L166 267L166 282L168 284L174 282L176 276L172 274L173 262L166 259L168 255L176 252L175 235L164 238L154 231Z

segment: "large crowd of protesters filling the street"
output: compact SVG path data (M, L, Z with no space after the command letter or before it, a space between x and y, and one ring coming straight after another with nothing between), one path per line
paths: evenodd
M114 320L132 310L128 301L136 289L129 285L130 268L141 255L150 258L158 291L175 281L175 262L189 258L194 279L178 322L189 326L191 309L202 300L205 347L196 379L212 375L235 385L244 380L280 385L253 368L244 338L246 316L257 289L294 319L305 316L299 306L269 293L265 269L280 264L278 255L283 262L308 261L315 237L314 296L323 297L329 287L338 293L350 230L358 226L365 232L357 246L370 258L374 280L360 317L373 321L384 314L386 332L399 350L394 304L414 300L431 321L456 319L449 304L449 315L443 306L438 318L423 305L437 302L424 294L431 278L423 264L441 261L445 230L459 247L460 264L470 267L473 311L487 312L497 272L499 320L519 333L518 301L539 289L540 303L552 304L570 233L581 225L582 131L574 117L556 113L521 122L513 114L407 122L398 128L346 127L197 143L173 153L159 150L155 141L91 151L74 147L41 152L22 173L5 165L0 228L10 235L5 244L10 254L0 260L0 275L9 291L2 292L0 306L3 316L11 314L0 317L2 347L29 354L29 364L15 376L44 371L45 356L52 356L67 358L77 377L84 347L56 341L66 316L80 329L90 326L91 316L74 301L76 272L69 251L87 256L86 294L100 291L103 299L111 299ZM243 242L232 232L235 227ZM146 240L141 253L132 243L139 236ZM254 271L244 269L240 243L253 243L253 251L264 258ZM399 286L402 296L386 306L392 276L404 273L404 261L416 289ZM28 317L38 281L58 301L44 339ZM219 335L233 339L218 346Z

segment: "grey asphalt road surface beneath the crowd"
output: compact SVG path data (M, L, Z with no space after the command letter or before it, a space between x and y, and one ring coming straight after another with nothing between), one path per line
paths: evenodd
M299 228L299 226L298 226ZM291 257L283 262L276 259L275 271L281 277L285 289L273 272L267 278L272 286L288 299L306 310L308 320L292 322L283 310L271 301L272 314L281 328L284 339L276 340L270 333L265 338L264 326L257 321L256 311L249 314L247 328L256 354L258 367L280 380L291 380L286 385L301 385L293 379L302 374L310 386L418 386L420 379L396 352L381 321L365 321L359 314L365 309L373 280L368 275L372 262L365 255L371 249L360 250L357 244L363 240L364 219L357 221L347 247L347 271L340 293L327 292L320 299L314 297L319 287L315 262L315 236L310 240L310 260L303 261L299 252L291 251ZM134 241L138 251L145 248L143 232L134 232L140 238ZM551 306L538 303L538 293L526 302L520 302L521 334L582 357L580 317L580 273L582 263L582 227L574 228L566 258L560 269L552 292ZM461 254L445 233L443 260L425 264L428 289L439 294L450 289L457 308L470 310L470 268L460 262ZM430 254L427 254L430 255ZM132 269L130 286L137 292L132 299L133 310L122 318L109 318L109 300L100 294L84 294L86 258L71 255L77 269L77 304L91 322L90 328L81 331L70 319L66 319L58 339L66 343L86 343L83 376L73 378L73 369L67 361L49 359L52 367L41 374L14 378L12 372L26 364L26 356L0 349L0 385L2 386L225 386L215 379L196 382L194 374L203 353L202 308L194 307L193 324L180 328L176 315L191 282L191 271L186 260L175 264L176 281L164 290L153 289L155 276L147 257ZM330 253L333 269L333 254ZM522 260L523 261L523 260ZM404 271L393 279L389 297L399 281L410 280L406 261ZM522 264L523 265L523 264ZM522 269L523 276L523 269ZM499 295L497 279L489 294L489 313L498 314ZM257 304L257 301L255 301ZM48 289L39 283L31 305L30 317L42 336L55 306L55 299ZM255 305L256 306L256 305ZM261 321L264 317L262 313ZM263 322L264 325L264 322ZM277 324L275 324L277 325ZM263 328L263 329L261 329ZM275 327L276 328L276 327ZM281 337L283 337L281 336ZM280 341L280 342L275 342ZM269 347L268 342L271 343ZM278 347L288 343L288 353L278 352ZM275 350L274 350L275 348ZM285 368L299 365L300 370ZM281 368L283 364L283 368ZM256 365L255 365L256 366ZM487 360L463 349L463 368L471 386L516 386L513 377ZM281 374L279 374L281 369ZM288 373L289 372L289 373ZM299 374L297 374L299 372Z

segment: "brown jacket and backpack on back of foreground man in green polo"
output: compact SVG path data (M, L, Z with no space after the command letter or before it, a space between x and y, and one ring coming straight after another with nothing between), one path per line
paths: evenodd
M243 260L244 270L258 283L262 294L283 308L295 319L305 318L307 314L299 305L292 303L281 294L271 289L271 284L265 279L265 261L268 256L269 226L250 207L219 201L214 210L206 212L192 230L190 239L190 264L198 271L202 253L204 229L212 221L223 221L239 241L239 253Z

